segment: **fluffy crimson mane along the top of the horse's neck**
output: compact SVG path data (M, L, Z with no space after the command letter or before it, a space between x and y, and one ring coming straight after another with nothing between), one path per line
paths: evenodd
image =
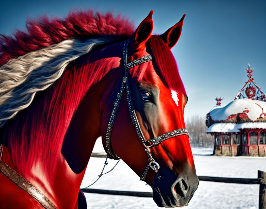
M134 24L121 15L113 17L111 13L87 10L69 12L65 19L49 19L47 16L38 20L28 19L26 29L27 32L17 30L14 37L1 35L0 65L67 39L90 39L99 35L130 36L134 32Z

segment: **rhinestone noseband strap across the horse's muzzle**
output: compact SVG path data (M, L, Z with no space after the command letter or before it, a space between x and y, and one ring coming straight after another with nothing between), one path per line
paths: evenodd
M174 131L167 132L165 134L162 134L161 136L155 137L154 139L150 139L150 140L145 141L145 147L156 146L156 145L160 144L161 142L163 142L164 140L170 139L172 137L177 137L180 135L188 135L189 136L189 132L187 129L176 129Z

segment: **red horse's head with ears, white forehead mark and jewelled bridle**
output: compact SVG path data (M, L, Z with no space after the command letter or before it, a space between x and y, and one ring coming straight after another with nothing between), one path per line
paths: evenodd
M121 75L107 102L102 140L111 158L121 158L152 186L159 207L182 207L199 183L184 131L187 96L170 51L181 35L185 15L164 34L154 36L152 13L124 47L125 63L121 65L129 66L128 75ZM156 143L161 138L167 140ZM149 164L153 169L148 169Z

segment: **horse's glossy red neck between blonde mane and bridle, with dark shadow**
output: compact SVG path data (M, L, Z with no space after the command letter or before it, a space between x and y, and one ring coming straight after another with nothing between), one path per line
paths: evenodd
M4 138L16 170L48 198L63 204L61 208L77 200L101 135L100 106L104 108L123 70L121 56L122 43L116 43L73 62L51 88L5 126Z

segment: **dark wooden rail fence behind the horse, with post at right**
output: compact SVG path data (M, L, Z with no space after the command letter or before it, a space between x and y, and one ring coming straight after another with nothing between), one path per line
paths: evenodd
M104 157L106 153L92 153L91 157ZM198 176L200 181L213 181L223 183L259 184L259 209L266 209L266 172L258 171L258 178L224 178L213 176ZM152 197L152 192L118 191L104 189L81 189L83 192L98 194L127 195L135 197Z

